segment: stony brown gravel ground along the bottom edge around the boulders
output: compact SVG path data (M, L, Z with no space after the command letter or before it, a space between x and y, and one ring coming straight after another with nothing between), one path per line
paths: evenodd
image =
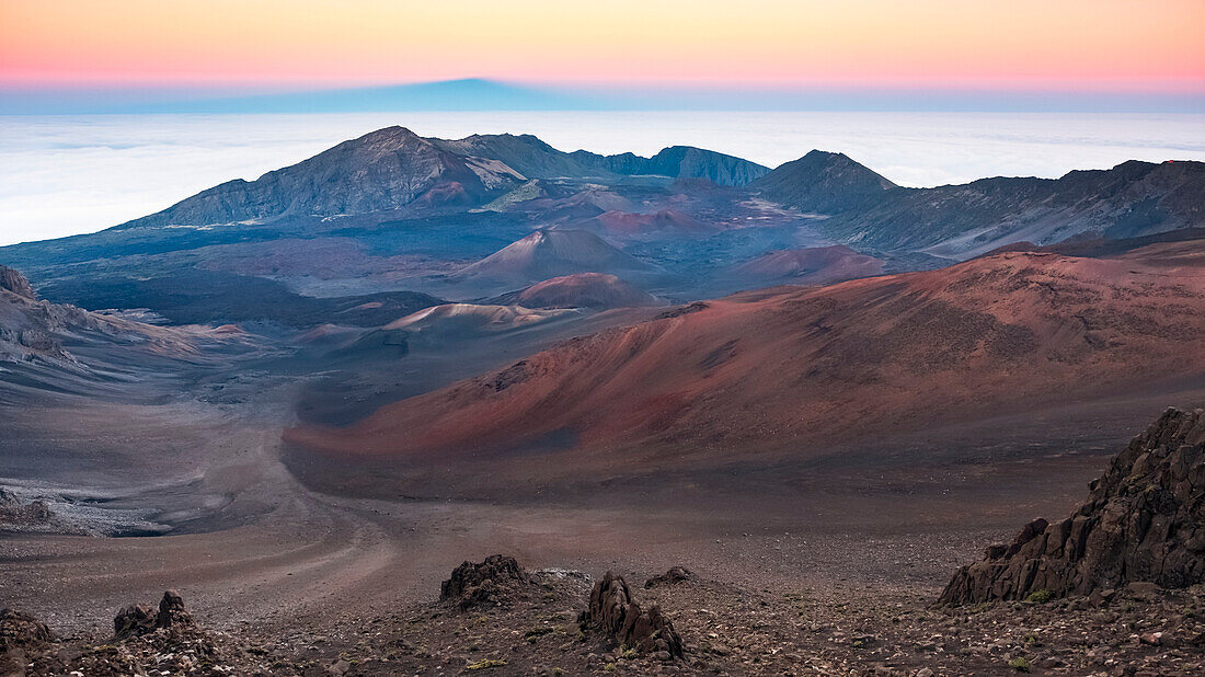
M480 567L481 565L471 565ZM504 567L504 570L507 567ZM954 676L1205 675L1205 585L1151 594L1121 589L1103 606L1084 597L1046 604L928 608L931 593L834 582L774 589L696 577L641 593L690 638L683 660L578 623L589 577L525 572L511 604L463 613L446 601L382 613L319 614L288 626L243 623L236 632L176 623L114 641L102 632L48 640L36 620L0 616L0 637L23 637L0 675L218 675L386 677L395 675L847 675ZM645 572L647 576L649 572ZM629 576L635 576L631 572ZM617 576L595 585L616 601ZM470 585L470 588L472 588ZM630 590L625 591L630 595ZM167 595L169 617L183 611ZM627 597L630 600L630 596ZM628 605L631 608L631 604ZM158 612L145 607L158 624ZM587 612L588 614L589 612ZM630 618L629 613L611 617ZM657 625L652 613L639 613ZM637 624L633 625L634 628ZM13 630L17 630L16 632ZM637 632L639 634L639 632ZM665 640L666 634L654 638ZM1023 667L1028 666L1028 667Z

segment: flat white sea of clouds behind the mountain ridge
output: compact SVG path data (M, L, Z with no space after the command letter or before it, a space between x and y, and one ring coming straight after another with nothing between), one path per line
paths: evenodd
M1128 159L1205 160L1205 114L407 112L0 116L0 245L92 232L400 124L424 136L535 134L649 155L688 145L768 166L840 151L903 186L1054 178ZM2 261L0 261L2 263Z

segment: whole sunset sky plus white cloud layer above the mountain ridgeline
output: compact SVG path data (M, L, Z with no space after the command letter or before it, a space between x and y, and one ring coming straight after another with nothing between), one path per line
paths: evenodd
M1205 160L1203 29L1205 0L0 0L0 243L389 124L906 186Z

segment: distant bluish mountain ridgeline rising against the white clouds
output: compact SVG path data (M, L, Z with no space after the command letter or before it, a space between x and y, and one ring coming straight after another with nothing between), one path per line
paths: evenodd
M406 210L465 210L504 201L522 211L563 182L623 190L633 177L701 179L760 195L817 222L836 241L869 252L965 258L1019 240L1047 245L1091 232L1135 237L1205 225L1205 164L1127 161L1058 179L983 178L901 188L841 153L812 151L769 170L686 146L652 158L565 153L530 135L421 137L392 126L346 141L255 181L204 190L118 228L208 225ZM535 181L536 186L531 182Z

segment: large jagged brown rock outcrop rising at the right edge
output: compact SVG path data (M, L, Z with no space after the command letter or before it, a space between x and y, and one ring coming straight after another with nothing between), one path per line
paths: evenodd
M1170 408L1113 457L1070 517L1035 519L958 570L939 604L1205 582L1205 413Z

